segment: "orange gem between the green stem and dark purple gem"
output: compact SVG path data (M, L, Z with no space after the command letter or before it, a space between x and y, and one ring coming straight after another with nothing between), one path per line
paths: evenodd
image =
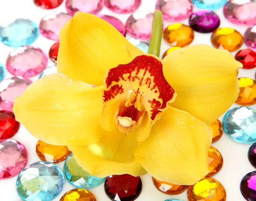
M183 48L194 40L194 31L188 25L174 23L165 28L163 38L172 46Z

